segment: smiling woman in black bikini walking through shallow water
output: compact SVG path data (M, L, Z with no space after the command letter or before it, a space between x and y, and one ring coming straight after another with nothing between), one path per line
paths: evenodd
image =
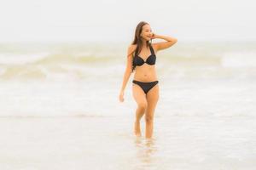
M166 42L152 43L152 39L160 38ZM134 133L141 136L140 120L145 113L145 137L151 138L153 134L154 109L159 99L159 83L155 72L156 53L170 48L177 42L176 38L156 35L151 31L147 22L141 21L136 28L135 37L127 50L127 63L119 101L124 101L126 83L135 71L132 84L132 95L137 102Z

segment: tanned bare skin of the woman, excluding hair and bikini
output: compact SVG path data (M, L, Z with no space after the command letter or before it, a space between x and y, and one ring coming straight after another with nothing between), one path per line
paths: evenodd
M177 42L177 39L174 37L160 36L152 32L150 25L146 24L143 26L143 30L140 34L140 38L143 40L143 48L141 52L138 54L141 58L146 60L150 55L150 49L146 46L146 42L151 39L160 38L165 40L165 42L155 42L152 43L152 47L154 48L154 54L157 55L157 52L170 48L174 43ZM119 101L124 102L124 94L125 94L125 86L128 82L131 73L132 73L132 54L134 54L135 49L137 48L137 44L131 44L127 50L127 60L126 60L126 68L125 74L123 78L122 88L119 93ZM135 74L133 77L134 80L139 80L141 82L154 82L158 80L155 71L155 65L141 65L136 66ZM145 137L147 139L152 138L153 129L154 129L154 110L156 104L159 99L159 84L155 85L154 88L151 88L148 91L148 94L144 94L143 89L137 84L132 84L132 96L137 103L136 110L136 119L134 122L133 132L136 136L142 136L140 121L143 115L145 115L146 122L146 130Z

